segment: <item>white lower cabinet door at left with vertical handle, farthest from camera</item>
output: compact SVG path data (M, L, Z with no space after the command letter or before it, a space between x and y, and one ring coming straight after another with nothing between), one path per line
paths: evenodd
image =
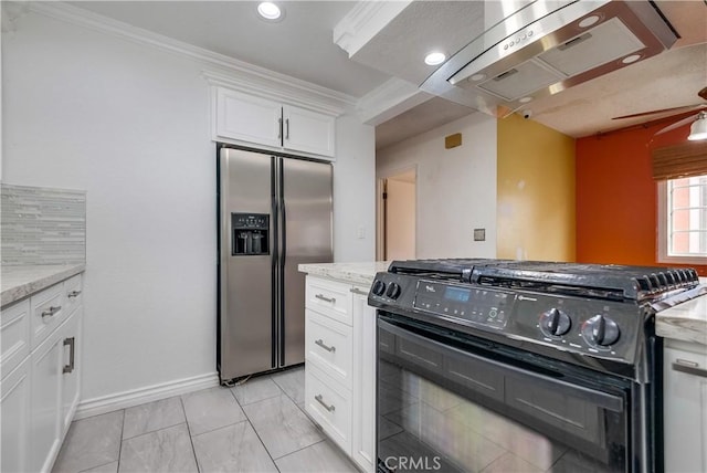
M60 433L63 438L74 418L78 404L81 386L81 319L83 306L78 306L74 314L62 327L62 409Z

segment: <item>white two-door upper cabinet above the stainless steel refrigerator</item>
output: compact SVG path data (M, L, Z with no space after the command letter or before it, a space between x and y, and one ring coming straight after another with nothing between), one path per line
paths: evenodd
M334 157L331 115L215 87L214 139Z

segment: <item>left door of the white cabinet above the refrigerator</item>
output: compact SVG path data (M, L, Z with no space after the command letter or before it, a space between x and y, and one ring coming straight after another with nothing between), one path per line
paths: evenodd
M217 138L282 146L282 106L228 88L217 88Z

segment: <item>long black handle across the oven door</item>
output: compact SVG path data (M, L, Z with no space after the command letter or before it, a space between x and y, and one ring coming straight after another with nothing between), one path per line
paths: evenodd
M624 399L620 396L615 396L609 392L598 391L595 389L587 388L584 386L578 386L571 382L562 381L561 379L556 379L546 375L541 375L538 372L529 371L523 368L518 368L513 365L498 362L492 358L476 355L466 350L458 349L456 347L444 345L437 340L430 339L428 337L423 337L413 332L410 332L397 323L393 324L391 322L386 322L386 319L393 322L392 319L378 315L378 327L384 332L391 333L392 335L400 337L402 339L410 340L414 344L422 345L426 349L441 353L444 357L455 357L455 358L465 358L469 360L474 360L476 362L484 362L492 366L494 369L498 370L505 375L510 375L516 378L525 378L531 379L532 382L540 383L546 388L550 389L563 389L568 393L591 402L593 406L597 406L602 409L606 409L613 412L623 412L624 411ZM403 358L400 356L398 344L395 344L395 356ZM444 368L443 368L444 369Z

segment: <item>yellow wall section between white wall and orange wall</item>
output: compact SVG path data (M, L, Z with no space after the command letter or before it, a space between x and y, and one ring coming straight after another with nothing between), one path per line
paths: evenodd
M497 139L497 256L574 261L574 139L517 114Z

